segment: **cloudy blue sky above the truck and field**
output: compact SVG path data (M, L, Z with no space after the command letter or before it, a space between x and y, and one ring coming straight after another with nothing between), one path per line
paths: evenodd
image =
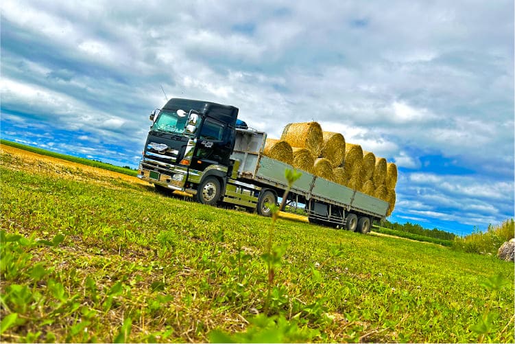
M137 168L167 98L268 137L316 121L398 166L389 220L514 217L514 3L25 1L1 10L2 139Z

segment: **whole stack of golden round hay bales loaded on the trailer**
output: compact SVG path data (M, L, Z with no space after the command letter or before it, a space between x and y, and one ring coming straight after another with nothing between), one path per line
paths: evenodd
M323 131L317 122L287 124L280 140L267 139L265 150L263 154L291 161L289 164L298 170L385 200L389 203L387 216L394 211L397 166L346 142L342 134Z

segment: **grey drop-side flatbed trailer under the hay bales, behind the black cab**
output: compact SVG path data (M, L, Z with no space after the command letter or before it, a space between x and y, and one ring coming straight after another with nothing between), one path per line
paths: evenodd
M267 188L274 193L276 198L281 197L288 186L285 170L294 168L287 163L263 155L266 133L245 129L236 131L235 147L231 154L231 159L235 161L232 181L244 183L250 189L256 186L260 187L260 194L263 194L263 188ZM385 218L388 203L384 200L352 190L309 172L300 172L302 175L291 186L287 199L288 207L281 210L296 214L302 211L308 216L310 222L333 227L347 227L351 230L360 227L358 222L361 218L369 219L365 231L370 230L370 225L374 220ZM228 185L230 184L229 182ZM224 201L231 203L230 198L224 198ZM260 204L259 199L254 199L254 201L256 201L259 211L260 207L264 205ZM252 202L253 204L254 202Z

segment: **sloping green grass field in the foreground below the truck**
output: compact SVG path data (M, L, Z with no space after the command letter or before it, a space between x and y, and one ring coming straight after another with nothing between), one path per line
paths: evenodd
M510 262L289 220L268 252L270 218L3 145L0 168L1 341L514 342Z

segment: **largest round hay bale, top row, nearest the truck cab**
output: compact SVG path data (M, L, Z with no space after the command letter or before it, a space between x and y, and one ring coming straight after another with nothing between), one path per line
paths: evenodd
M317 122L290 123L283 130L280 139L291 147L307 148L313 157L320 156L323 144L322 127Z

